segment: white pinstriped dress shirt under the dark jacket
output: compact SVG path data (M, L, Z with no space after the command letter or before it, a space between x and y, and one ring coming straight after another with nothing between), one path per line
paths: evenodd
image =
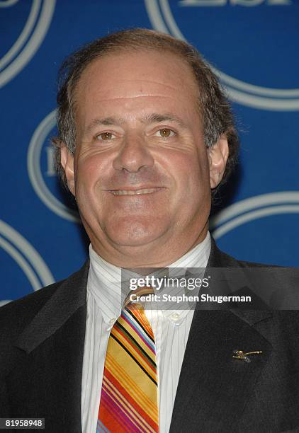
M171 263L169 268L205 268L209 255L210 233L203 242L176 262ZM83 433L96 432L108 337L120 316L125 296L120 287L120 268L99 257L92 246L89 247L89 256L81 393ZM145 308L156 342L159 432L167 433L194 311L193 309L176 311L174 306L165 309L154 309L151 306Z

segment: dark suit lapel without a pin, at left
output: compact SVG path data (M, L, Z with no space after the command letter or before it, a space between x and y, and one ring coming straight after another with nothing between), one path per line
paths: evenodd
M65 280L19 335L18 366L6 379L14 416L47 414L52 431L81 432L88 270L86 262Z

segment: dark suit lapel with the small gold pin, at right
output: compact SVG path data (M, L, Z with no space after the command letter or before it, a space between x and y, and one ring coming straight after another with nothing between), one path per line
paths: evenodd
M208 267L237 267L213 241ZM254 328L271 311L196 310L176 391L170 432L231 432L254 391L271 344ZM233 350L262 350L252 362Z

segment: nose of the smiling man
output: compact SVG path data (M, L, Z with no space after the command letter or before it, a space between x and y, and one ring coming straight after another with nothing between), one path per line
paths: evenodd
M147 148L145 140L130 134L130 136L125 137L123 145L113 161L113 168L137 173L140 168L151 167L153 164L154 158Z

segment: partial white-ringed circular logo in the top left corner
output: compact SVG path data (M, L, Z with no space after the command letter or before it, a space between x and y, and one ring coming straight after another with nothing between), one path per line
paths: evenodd
M52 20L55 1L0 0L2 18L5 9L9 23L13 24L13 28L8 28L9 39L1 41L4 52L0 54L0 88L26 66L40 47ZM22 23L13 19L17 14Z

